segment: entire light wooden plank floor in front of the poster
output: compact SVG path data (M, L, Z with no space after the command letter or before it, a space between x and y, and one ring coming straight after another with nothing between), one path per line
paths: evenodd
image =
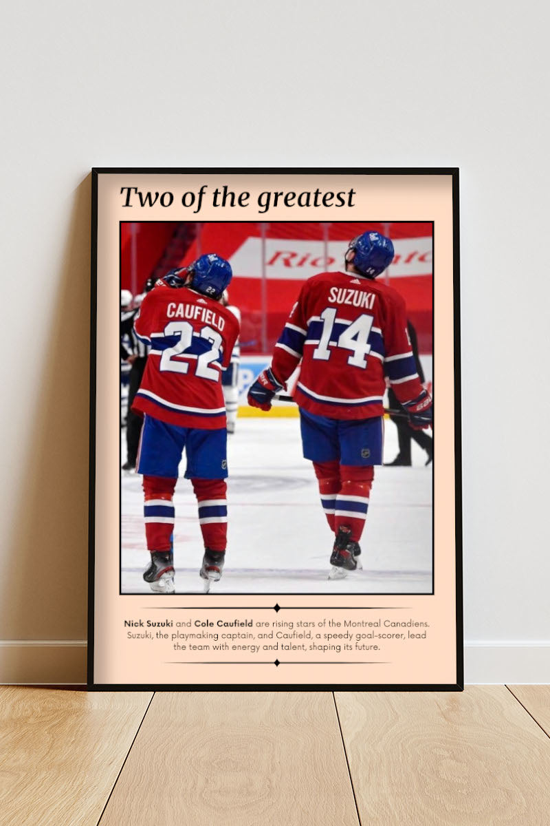
M2 826L550 824L550 686L0 688Z

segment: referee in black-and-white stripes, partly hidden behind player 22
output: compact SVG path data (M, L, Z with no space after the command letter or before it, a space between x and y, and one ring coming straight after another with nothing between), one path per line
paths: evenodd
M145 282L143 292L150 292L154 286L155 279L153 277L148 278ZM123 290L122 292L129 291ZM139 296L136 296L136 299L139 299ZM130 365L128 412L126 415L126 461L122 466L122 469L127 472L134 470L138 458L139 436L141 435L143 417L134 413L132 403L143 378L143 371L145 370L149 351L148 345L144 344L143 341L135 335L134 320L138 314L141 301L138 300L136 302L134 299L134 304L134 308L125 312L120 320L120 355L125 363Z

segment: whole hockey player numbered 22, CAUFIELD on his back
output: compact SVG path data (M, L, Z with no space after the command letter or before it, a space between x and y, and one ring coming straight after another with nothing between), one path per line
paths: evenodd
M186 473L199 507L204 591L222 575L227 538L227 429L221 373L239 333L221 303L231 266L204 254L171 270L143 299L134 322L150 346L133 410L144 416L137 472L143 475L143 573L154 593L174 593L173 494L186 451Z

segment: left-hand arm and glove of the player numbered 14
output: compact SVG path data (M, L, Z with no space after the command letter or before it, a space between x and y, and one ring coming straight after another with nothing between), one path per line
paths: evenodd
M252 407L269 411L273 396L285 389L287 380L302 358L303 342L308 335L303 320L303 292L300 292L298 301L290 311L289 320L275 344L270 368L260 373L248 391L248 404Z

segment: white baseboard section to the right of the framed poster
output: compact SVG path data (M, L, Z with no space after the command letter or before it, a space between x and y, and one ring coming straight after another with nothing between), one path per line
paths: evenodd
M464 682L547 685L550 683L550 642L467 642Z

